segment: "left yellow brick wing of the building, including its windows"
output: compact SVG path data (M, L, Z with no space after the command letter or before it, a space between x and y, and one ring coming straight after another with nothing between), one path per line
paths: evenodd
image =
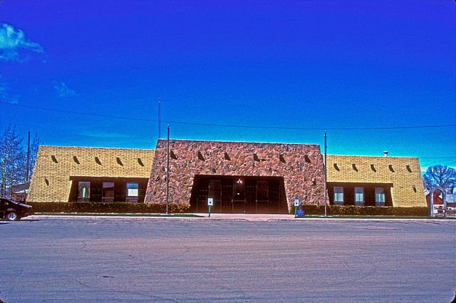
M143 202L154 150L40 146L29 202Z

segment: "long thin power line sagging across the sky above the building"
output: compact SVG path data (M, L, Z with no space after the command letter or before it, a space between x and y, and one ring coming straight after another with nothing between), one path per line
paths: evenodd
M83 113L81 111L68 111L68 110L56 109L56 108L43 108L40 106L27 106L25 104L11 104L11 103L4 102L4 101L0 101L0 103L6 104L9 106L33 108L33 109L38 109L38 110L43 110L43 111L53 111L53 112L57 112L57 113L73 113L73 114L78 114L78 115L91 115L91 116L95 116L95 117L104 117L104 118L158 122L155 119L125 117L125 116L121 116L121 115L105 115L105 114L100 114L100 113ZM183 124L183 125L215 126L215 127L224 127L224 128L257 128L257 129L276 129L276 130L398 130L398 129L413 129L413 128L447 128L447 127L456 126L456 124L446 124L446 125L413 125L413 126L390 126L390 127L371 127L371 128L369 128L369 127L366 127L366 128L302 128L302 127L287 127L287 126L197 123L197 122L174 121L174 120L162 120L162 122L163 123Z

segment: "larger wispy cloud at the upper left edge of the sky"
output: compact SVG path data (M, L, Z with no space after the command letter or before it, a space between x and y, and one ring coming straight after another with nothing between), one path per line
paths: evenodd
M0 24L0 61L21 61L21 53L24 51L44 53L41 45L29 41L20 29Z

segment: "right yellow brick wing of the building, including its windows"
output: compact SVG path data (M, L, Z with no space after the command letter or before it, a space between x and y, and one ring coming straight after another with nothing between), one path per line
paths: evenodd
M426 206L418 158L328 155L326 162L331 205Z

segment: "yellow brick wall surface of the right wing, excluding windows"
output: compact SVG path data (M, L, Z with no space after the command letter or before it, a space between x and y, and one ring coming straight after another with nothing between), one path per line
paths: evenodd
M334 167L334 163L337 164L339 171ZM353 164L358 171L353 169ZM376 172L371 169L371 164L374 165ZM393 183L393 206L426 206L418 158L328 155L327 165L328 182ZM389 165L392 165L394 173L390 171Z

